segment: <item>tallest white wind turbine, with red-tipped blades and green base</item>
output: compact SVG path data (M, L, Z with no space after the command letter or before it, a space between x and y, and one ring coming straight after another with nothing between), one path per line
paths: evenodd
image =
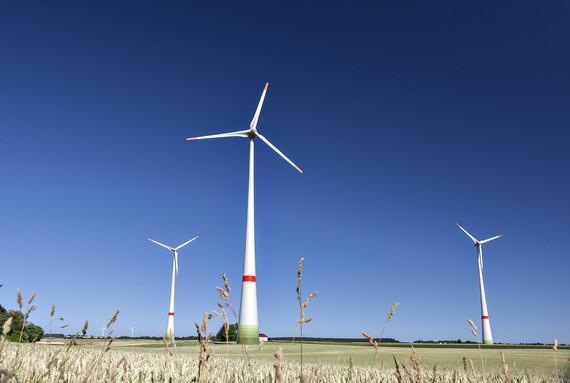
M235 132L213 134L201 137L189 137L186 140L205 140L209 138L241 137L249 140L249 183L247 189L247 223L245 230L245 259L243 263L243 278L241 289L241 304L239 311L238 342L242 344L259 343L259 326L257 320L257 277L255 274L255 214L254 214L254 141L259 138L269 146L274 152L281 156L291 166L303 173L301 168L293 163L285 154L281 153L267 138L257 131L257 122L261 107L267 93L269 83L265 83L261 98L257 104L257 109L253 119L249 124L249 129Z

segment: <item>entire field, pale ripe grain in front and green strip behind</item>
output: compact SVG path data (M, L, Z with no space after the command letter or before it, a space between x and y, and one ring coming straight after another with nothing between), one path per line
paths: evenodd
M0 355L5 368L0 381L3 377L8 382L298 382L299 347L269 342L245 350L236 344L210 344L207 361L201 364L196 341L178 342L176 348L142 340L115 340L109 347L105 341L68 346L6 343ZM278 348L281 380L276 380L274 367ZM476 347L412 350L409 345L391 345L381 347L375 357L367 344L303 345L308 382L567 382L569 358L568 349L493 347L480 352Z

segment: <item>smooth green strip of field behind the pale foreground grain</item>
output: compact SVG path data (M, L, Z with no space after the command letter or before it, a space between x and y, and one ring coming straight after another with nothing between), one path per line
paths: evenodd
M273 353L277 347L282 347L284 357L288 361L299 361L300 345L292 342L268 342L262 348L249 346L247 354L251 359L273 360ZM164 344L160 341L143 340L116 340L112 349L137 352L165 352ZM243 349L236 344L214 344L214 355L217 357L243 358ZM559 369L567 369L570 366L570 350L559 349L554 352L547 347L497 345L483 348L481 351L476 345L438 345L417 344L414 349L424 367L455 369L463 368L463 357L471 359L477 370L482 371L481 356L486 372L495 372L500 369L500 353L505 354L506 361L511 371L535 370L544 373L552 372L555 365ZM174 349L172 349L174 351ZM176 353L196 354L195 341L179 341ZM303 359L307 363L322 363L346 365L349 359L355 366L382 365L393 367L395 356L400 361L408 360L412 349L410 344L386 344L380 347L378 358L374 358L374 350L365 343L348 342L310 342L303 345Z

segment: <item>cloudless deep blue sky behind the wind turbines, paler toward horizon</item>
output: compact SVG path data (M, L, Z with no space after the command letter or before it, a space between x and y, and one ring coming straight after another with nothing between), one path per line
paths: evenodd
M239 303L247 142L258 128L260 329L469 337L476 236L495 340L570 342L570 6L564 2L5 1L0 5L0 303L38 293L91 333L176 332L226 271ZM212 328L217 330L218 323Z

